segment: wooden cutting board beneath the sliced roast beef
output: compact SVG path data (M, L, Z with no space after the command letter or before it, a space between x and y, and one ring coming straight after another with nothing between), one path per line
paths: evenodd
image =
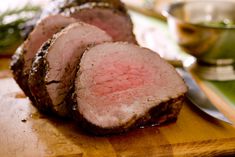
M12 78L0 78L0 100L1 157L235 155L235 128L203 114L190 102L174 123L94 137L69 120L39 114Z

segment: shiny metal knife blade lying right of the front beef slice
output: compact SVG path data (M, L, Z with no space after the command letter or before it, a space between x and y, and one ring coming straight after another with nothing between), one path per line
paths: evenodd
M200 89L189 72L183 68L177 68L179 74L183 77L189 89L186 93L187 98L200 110L221 121L232 124L207 98L206 94Z

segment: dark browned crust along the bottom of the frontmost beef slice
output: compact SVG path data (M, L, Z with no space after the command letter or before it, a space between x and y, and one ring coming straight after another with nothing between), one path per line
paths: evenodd
M72 92L71 92L72 93ZM178 96L177 98L172 98L166 102L162 102L155 107L151 108L145 115L141 118L133 118L132 120L126 122L125 124L120 124L120 126L113 128L102 128L99 127L88 120L86 120L82 113L78 110L77 95L73 93L71 96L70 110L73 119L77 121L78 126L82 127L88 133L97 136L121 134L146 125L161 125L167 122L171 122L177 119L180 110L185 101L185 95ZM72 105L72 106L71 106Z

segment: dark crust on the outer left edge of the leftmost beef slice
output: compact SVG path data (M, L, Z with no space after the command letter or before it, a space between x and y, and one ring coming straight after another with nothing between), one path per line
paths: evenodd
M12 61L10 64L11 71L15 81L18 83L20 88L23 90L26 96L34 103L34 97L32 96L29 86L28 86L28 77L29 74L24 72L24 54L25 50L23 45L21 45L12 56Z

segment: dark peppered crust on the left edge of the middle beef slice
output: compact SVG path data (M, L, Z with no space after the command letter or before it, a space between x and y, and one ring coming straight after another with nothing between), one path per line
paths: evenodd
M47 92L46 86L50 83L56 82L46 82L45 78L49 70L49 63L46 59L48 50L50 46L55 42L58 36L60 36L64 31L60 31L53 35L51 39L45 42L39 49L36 57L34 58L32 68L30 70L28 84L29 89L34 97L35 102L33 105L43 114L55 115L60 117L68 117L68 110L66 102L63 101L59 106L54 106L52 100ZM56 110L60 108L60 111Z

